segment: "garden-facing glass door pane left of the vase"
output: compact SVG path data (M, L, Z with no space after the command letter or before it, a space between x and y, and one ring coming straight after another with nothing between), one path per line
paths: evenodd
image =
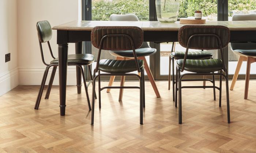
M135 14L139 21L149 21L149 0L92 0L92 20L109 21L112 14ZM98 49L93 46L92 54L95 59L98 58ZM116 57L102 50L101 59L116 59ZM149 65L149 56L146 60ZM93 68L95 66L96 64L93 64Z

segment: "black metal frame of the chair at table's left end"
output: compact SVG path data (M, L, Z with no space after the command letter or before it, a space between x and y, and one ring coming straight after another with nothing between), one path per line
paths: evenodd
M49 50L50 50L50 54L51 54L52 58L55 59L55 57L53 56L53 53L52 53L52 48L50 47L50 42L48 41L47 43L48 43L48 47L49 47ZM52 89L53 79L54 79L54 76L55 76L55 73L56 73L56 70L57 70L57 66L59 66L59 64L47 64L47 63L45 63L42 43L40 42L40 39L39 39L39 45L40 45L42 61L46 65L46 68L45 68L45 72L44 72L44 75L43 75L43 78L42 78L41 86L40 86L40 89L39 89L39 92L38 92L37 101L35 102L35 108L34 109L37 109L37 110L38 110L39 105L40 105L40 101L41 101L41 97L42 97L42 94L43 94L43 91L44 91L44 86L45 86L45 82L46 82L46 78L47 78L47 75L48 75L49 68L53 66L52 74L50 76L49 85L48 85L48 88L47 88L47 91L46 91L46 95L45 95L45 99L48 99L49 96L50 96L50 91ZM88 94L88 90L87 90L88 86L93 81L93 76L91 74L91 71L89 71L90 72L90 76L91 76L91 80L86 85L83 67L80 64L68 64L68 66L77 66L77 67L79 67L81 69L82 77L83 77L83 83L84 83L84 88L85 88L86 97L87 97L87 102L88 102L89 110L91 110L90 99L89 99L89 94ZM89 67L89 70L91 70L90 64L87 65L87 66ZM95 98L97 98L96 95L95 95ZM65 107L65 106L61 106L60 105L60 107Z

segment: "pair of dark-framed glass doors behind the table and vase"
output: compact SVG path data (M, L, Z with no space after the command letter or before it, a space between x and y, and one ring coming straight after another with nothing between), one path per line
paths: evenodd
M194 17L194 12L196 10L200 10L202 11L204 19L210 21L225 21L228 20L228 16L231 15L228 10L230 1L231 0L180 0L178 17ZM133 13L138 16L140 21L157 21L155 0L83 0L83 20L109 20L109 16L111 14L129 13ZM92 48L90 42L84 44L84 52L93 54L97 58L98 50L96 48ZM151 72L155 80L167 80L169 54L172 49L172 42L150 42L149 44L152 48L157 49L157 53L155 55L147 57L147 62L150 65ZM175 51L185 51L185 48L176 43ZM210 52L213 53L214 58L220 58L217 50L210 50ZM224 56L227 67L229 65L228 55L229 50L228 47L226 47L224 49ZM115 57L110 55L108 51L104 51L101 57L115 59ZM133 80L136 78L131 77L127 79ZM108 80L108 78L105 80Z

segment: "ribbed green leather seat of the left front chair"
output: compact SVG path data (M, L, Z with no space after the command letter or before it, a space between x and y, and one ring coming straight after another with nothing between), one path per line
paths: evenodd
M144 66L144 60L138 59L139 68ZM106 73L129 73L137 71L135 60L99 60L98 69Z

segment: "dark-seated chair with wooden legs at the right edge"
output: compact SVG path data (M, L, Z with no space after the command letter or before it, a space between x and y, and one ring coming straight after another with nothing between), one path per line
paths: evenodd
M232 16L232 21L246 21L246 20L256 20L256 14L234 14ZM230 86L230 90L234 89L234 86L237 81L237 77L242 66L243 61L246 63L246 75L245 75L245 89L244 89L244 99L248 98L248 88L249 88L249 79L250 79L250 69L251 63L256 62L256 43L230 43L230 48L234 54L239 55L237 67L233 80Z

